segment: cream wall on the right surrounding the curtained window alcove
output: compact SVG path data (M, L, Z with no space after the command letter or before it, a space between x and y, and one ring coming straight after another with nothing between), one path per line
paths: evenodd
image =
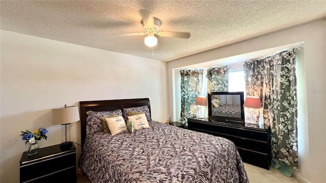
M173 69L210 62L230 56L304 42L298 76L299 170L295 176L304 182L326 182L326 20L285 29L167 63L169 113L176 114ZM179 115L179 114L177 114ZM173 116L174 117L174 116Z

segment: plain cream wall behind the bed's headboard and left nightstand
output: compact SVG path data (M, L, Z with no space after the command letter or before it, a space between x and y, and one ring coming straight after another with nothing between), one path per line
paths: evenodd
M133 98L149 98L153 120L166 120L164 62L1 31L0 181L19 182L20 131L44 127L40 147L61 143L51 108ZM79 129L79 121L72 124L71 140L80 144Z

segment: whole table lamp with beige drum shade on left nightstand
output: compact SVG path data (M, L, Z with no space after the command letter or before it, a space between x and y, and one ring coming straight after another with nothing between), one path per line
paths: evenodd
M70 141L70 123L80 120L78 106L59 107L52 109L52 123L53 125L62 125L62 133L65 133L65 139L60 144L60 149L70 149L72 142ZM68 127L68 136L67 136ZM68 138L67 138L68 137ZM67 141L68 140L68 141Z

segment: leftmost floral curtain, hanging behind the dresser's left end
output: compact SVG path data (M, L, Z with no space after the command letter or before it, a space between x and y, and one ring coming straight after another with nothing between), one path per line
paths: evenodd
M195 117L195 101L201 95L203 87L203 70L182 70L181 76L181 123L187 125L187 118Z

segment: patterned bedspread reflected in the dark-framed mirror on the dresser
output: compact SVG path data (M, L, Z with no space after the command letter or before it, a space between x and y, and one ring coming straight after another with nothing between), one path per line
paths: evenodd
M212 115L241 118L240 105L224 104L223 106L213 107Z

